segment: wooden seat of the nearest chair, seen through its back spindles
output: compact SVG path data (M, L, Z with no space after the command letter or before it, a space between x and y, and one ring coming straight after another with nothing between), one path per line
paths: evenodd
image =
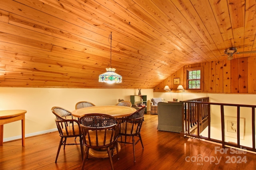
M90 133L90 140L91 140L91 146L97 146L96 144L96 131L89 131ZM98 146L103 146L104 145L104 135L105 135L105 130L98 130ZM112 131L106 131L106 144L110 144L110 139L111 139ZM114 139L114 137L113 137ZM113 141L113 140L112 140ZM88 135L86 135L86 143L88 143Z

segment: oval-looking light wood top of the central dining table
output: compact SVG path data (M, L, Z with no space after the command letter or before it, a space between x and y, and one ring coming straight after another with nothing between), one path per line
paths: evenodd
M72 115L75 117L81 117L88 113L103 113L114 117L124 117L134 113L135 111L135 108L126 106L92 106L76 109L72 111Z

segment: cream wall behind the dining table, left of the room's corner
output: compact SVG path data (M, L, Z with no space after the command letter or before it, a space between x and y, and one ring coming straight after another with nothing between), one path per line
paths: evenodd
M153 97L153 89L142 89L147 98ZM53 106L69 111L79 101L89 101L96 106L115 105L118 99L130 101L130 95L138 95L138 89L78 89L78 88L0 88L0 110L24 109L25 137L56 131ZM4 125L4 141L21 138L21 121Z

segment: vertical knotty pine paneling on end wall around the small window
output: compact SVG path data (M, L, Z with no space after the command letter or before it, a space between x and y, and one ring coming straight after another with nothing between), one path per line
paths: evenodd
M203 88L206 93L256 93L256 57L243 57L232 60L211 61L206 63L188 64L177 70L161 84L154 92L164 92L164 86L177 92L178 85L173 84L174 78L180 78L180 84L187 88L186 69L202 67ZM186 92L195 92L186 90ZM197 91L199 92L199 91Z

